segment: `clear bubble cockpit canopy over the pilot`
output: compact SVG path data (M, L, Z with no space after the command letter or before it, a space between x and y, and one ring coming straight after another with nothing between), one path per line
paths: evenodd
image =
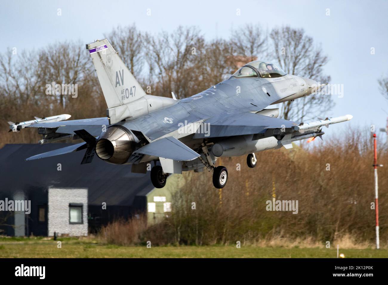
M274 78L286 75L279 66L268 60L255 60L241 67L232 76L236 78L258 77L257 72L262 78Z

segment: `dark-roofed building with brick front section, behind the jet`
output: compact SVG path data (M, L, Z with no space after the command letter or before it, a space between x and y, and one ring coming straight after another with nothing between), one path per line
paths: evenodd
M170 211L171 191L177 184L172 183L171 187L154 189L149 174L131 173L131 165L109 164L98 157L94 157L92 163L81 165L84 151L33 161L24 160L68 145L66 143L9 144L0 149L0 200L3 199L2 197L13 199L16 194L21 197L20 192L23 193L25 200L27 198L31 200L31 213L24 217L25 235L31 235L31 233L52 235L47 219L54 209L60 207L57 203L62 203L61 207L64 204L71 207L67 209L69 215L63 217L66 223L72 223L71 219L81 219L82 212L87 217L89 232L97 230L101 225L116 218L129 218L133 214L147 213L148 221L152 222L155 221L156 214L160 217ZM174 176L170 177L169 181L173 179L175 179ZM62 191L58 191L61 189ZM67 191L69 189L74 189L73 192L70 191L74 195L66 194L69 193ZM51 206L50 193L52 193L51 197L54 195L56 198L51 198L51 201L56 201L52 202ZM61 193L63 193L62 198ZM76 207L80 206L80 203L76 201L76 196L84 193L87 195L87 205L77 211ZM154 196L157 198L154 199ZM103 203L106 203L106 209L103 209ZM163 212L160 209L164 209ZM5 213L0 212L0 216L2 214L4 216ZM23 218L13 216L11 223L15 223L15 220L21 221ZM53 223L60 224L59 221L51 221L51 224ZM0 224L0 230L2 228L9 235L22 235L20 233L23 231L23 229L19 230L17 234L16 226L10 230L9 227ZM71 232L68 234L72 235Z

